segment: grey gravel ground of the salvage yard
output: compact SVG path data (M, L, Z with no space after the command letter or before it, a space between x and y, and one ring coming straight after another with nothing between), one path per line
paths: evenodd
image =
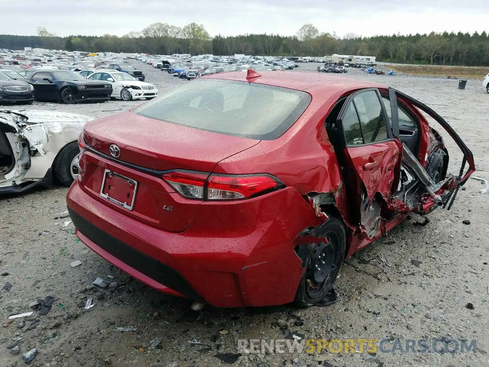
M160 92L183 80L133 61ZM318 64L298 71L316 72ZM432 106L461 135L476 158L476 176L489 179L487 134L489 94L479 81L466 90L457 80L368 75L351 69L343 76L393 86ZM63 105L35 103L32 108L102 117L141 102ZM440 131L440 130L439 130ZM448 149L456 152L446 139ZM460 157L451 157L451 168ZM488 366L489 365L489 194L469 180L450 211L430 215L426 227L407 220L388 236L356 253L343 265L333 306L293 310L276 308L189 310L191 302L171 298L133 280L89 251L66 219L66 188L38 190L24 196L0 198L0 366L21 366L21 356L39 351L32 366ZM470 220L470 225L462 223ZM80 260L72 268L70 263ZM414 260L414 261L413 261ZM5 275L7 274L8 275ZM116 282L110 291L92 287L95 277ZM7 287L8 288L8 287ZM30 304L54 297L44 316L7 322L9 315L30 310ZM87 298L94 307L84 312ZM472 303L474 309L466 307ZM302 321L298 321L298 319ZM119 332L116 327L133 326ZM396 339L427 340L426 353L237 353L238 339L282 339L289 330L317 339L377 339L384 350L396 350ZM227 332L225 332L227 331ZM150 341L160 339L156 347ZM474 350L433 352L452 340L476 340ZM189 343L189 342L200 342ZM417 343L417 342L416 342ZM18 345L17 348L12 348ZM419 349L418 346L416 349ZM357 347L358 350L358 347ZM488 352L486 352L488 351ZM14 353L14 354L12 354ZM230 353L226 355L225 353ZM239 358L238 358L239 357ZM317 359L322 359L318 361Z

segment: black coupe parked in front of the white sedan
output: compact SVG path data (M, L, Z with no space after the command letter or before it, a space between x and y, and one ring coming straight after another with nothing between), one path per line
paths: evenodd
M38 70L24 80L34 86L39 101L105 102L112 94L110 83L88 80L75 71Z

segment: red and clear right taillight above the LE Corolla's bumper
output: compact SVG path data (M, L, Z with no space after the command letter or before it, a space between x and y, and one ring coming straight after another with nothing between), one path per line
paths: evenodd
M252 198L285 187L269 174L225 175L196 171L174 171L162 178L189 199L239 200Z

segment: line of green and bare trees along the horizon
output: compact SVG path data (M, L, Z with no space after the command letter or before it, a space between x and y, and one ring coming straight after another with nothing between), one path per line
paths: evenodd
M378 61L428 64L489 66L489 37L482 33L435 33L361 37L319 33L304 24L295 35L245 34L211 37L202 24L183 28L153 23L140 32L118 37L71 35L58 37L45 28L37 36L0 35L0 48L40 47L67 51L128 52L171 55L174 53L262 56L318 56L337 54L376 56Z

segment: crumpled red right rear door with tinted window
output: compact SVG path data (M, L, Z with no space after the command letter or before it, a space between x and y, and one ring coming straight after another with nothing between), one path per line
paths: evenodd
M361 197L361 184L370 203L376 193L390 197L394 168L401 158L380 98L373 88L355 92L345 101L338 117L346 168L356 174L356 194L361 203L366 199Z

